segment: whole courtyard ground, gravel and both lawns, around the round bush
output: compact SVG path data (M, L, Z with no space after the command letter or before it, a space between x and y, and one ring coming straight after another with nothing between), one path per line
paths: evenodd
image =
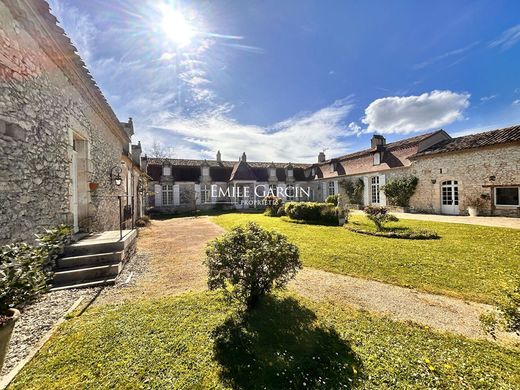
M243 318L207 291L202 260L210 239L250 220L296 243L304 269ZM134 282L70 314L10 388L517 387L518 340L486 337L478 315L515 270L520 230L398 224L441 238L254 213L153 220Z

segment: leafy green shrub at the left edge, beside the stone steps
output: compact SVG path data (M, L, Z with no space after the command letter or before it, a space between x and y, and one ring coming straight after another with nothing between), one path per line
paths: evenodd
M7 310L19 307L47 289L47 252L25 243L0 248L0 326Z

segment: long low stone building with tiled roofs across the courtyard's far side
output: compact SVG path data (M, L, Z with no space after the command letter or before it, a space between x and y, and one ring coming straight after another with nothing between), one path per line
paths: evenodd
M247 162L245 154L238 161L221 161L218 153L211 161L150 159L147 170L155 193L150 205L169 211L210 208L222 201L244 207L240 197L211 198L213 185L279 186L291 189L289 194L282 191L284 201L324 201L329 195L345 195L345 181L360 183L361 206L386 206L383 186L415 176L412 212L466 214L467 201L477 197L486 202L482 214L519 216L519 164L520 126L513 126L458 138L438 130L388 144L374 135L370 148L332 159L322 152L315 164ZM193 202L182 200L186 191ZM260 191L249 200L263 195Z

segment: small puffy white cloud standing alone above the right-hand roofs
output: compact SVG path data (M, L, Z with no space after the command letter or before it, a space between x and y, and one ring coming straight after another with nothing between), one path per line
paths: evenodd
M412 133L430 130L463 118L468 93L432 91L419 96L392 96L374 100L365 109L366 132Z

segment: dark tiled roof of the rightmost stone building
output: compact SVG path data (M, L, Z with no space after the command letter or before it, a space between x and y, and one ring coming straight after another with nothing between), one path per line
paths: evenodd
M441 141L429 148L417 153L415 156L426 156L430 154L454 152L458 150L467 150L481 148L484 146L499 145L509 142L520 141L520 125L506 127L503 129L486 131L465 135L463 137L452 138ZM414 156L414 157L415 157Z

